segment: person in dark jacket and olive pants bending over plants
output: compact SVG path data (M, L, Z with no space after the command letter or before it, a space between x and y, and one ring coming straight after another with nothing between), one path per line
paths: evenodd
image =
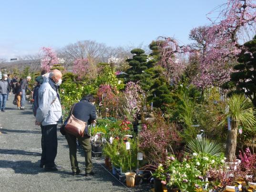
M77 137L66 133L66 138L69 145L69 156L72 168L72 174L76 175L80 173L78 162L76 158L76 139L82 145L85 156L85 176L94 175L92 172L92 146L90 142L90 136L88 134L88 125L96 120L96 108L94 106L95 98L92 95L87 95L81 99L80 102L74 105L73 115L75 118L87 122L87 126L84 130L83 137Z

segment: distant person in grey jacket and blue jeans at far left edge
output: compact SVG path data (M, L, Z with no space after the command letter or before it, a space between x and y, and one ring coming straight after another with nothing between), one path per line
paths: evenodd
M7 75L4 74L0 81L0 112L5 112L7 95L10 92L10 85L7 81Z

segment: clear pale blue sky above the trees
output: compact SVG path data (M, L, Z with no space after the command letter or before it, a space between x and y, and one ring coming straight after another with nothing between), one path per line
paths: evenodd
M148 45L158 36L188 43L189 31L226 0L0 0L0 58L77 40Z

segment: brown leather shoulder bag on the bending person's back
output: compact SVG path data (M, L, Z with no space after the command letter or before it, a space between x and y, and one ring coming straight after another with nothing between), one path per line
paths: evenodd
M76 137L79 137L79 136L83 137L84 129L87 125L87 122L84 122L82 120L79 120L79 119L75 118L75 116L73 115L73 110L74 110L75 105L76 105L76 103L72 107L70 117L67 121L67 124L65 125L64 130L67 133L70 133L70 134L72 134Z

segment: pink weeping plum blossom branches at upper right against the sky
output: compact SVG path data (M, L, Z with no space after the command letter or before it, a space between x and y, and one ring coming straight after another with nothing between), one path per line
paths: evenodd
M191 30L190 39L195 43L180 46L173 38L164 38L162 60L160 64L167 69L168 76L177 79L184 65L180 56L184 53L200 52L199 72L193 80L197 87L220 86L228 81L232 62L237 54L245 51L239 44L241 31L256 23L255 0L228 0L208 15L219 11L217 19L208 26Z

